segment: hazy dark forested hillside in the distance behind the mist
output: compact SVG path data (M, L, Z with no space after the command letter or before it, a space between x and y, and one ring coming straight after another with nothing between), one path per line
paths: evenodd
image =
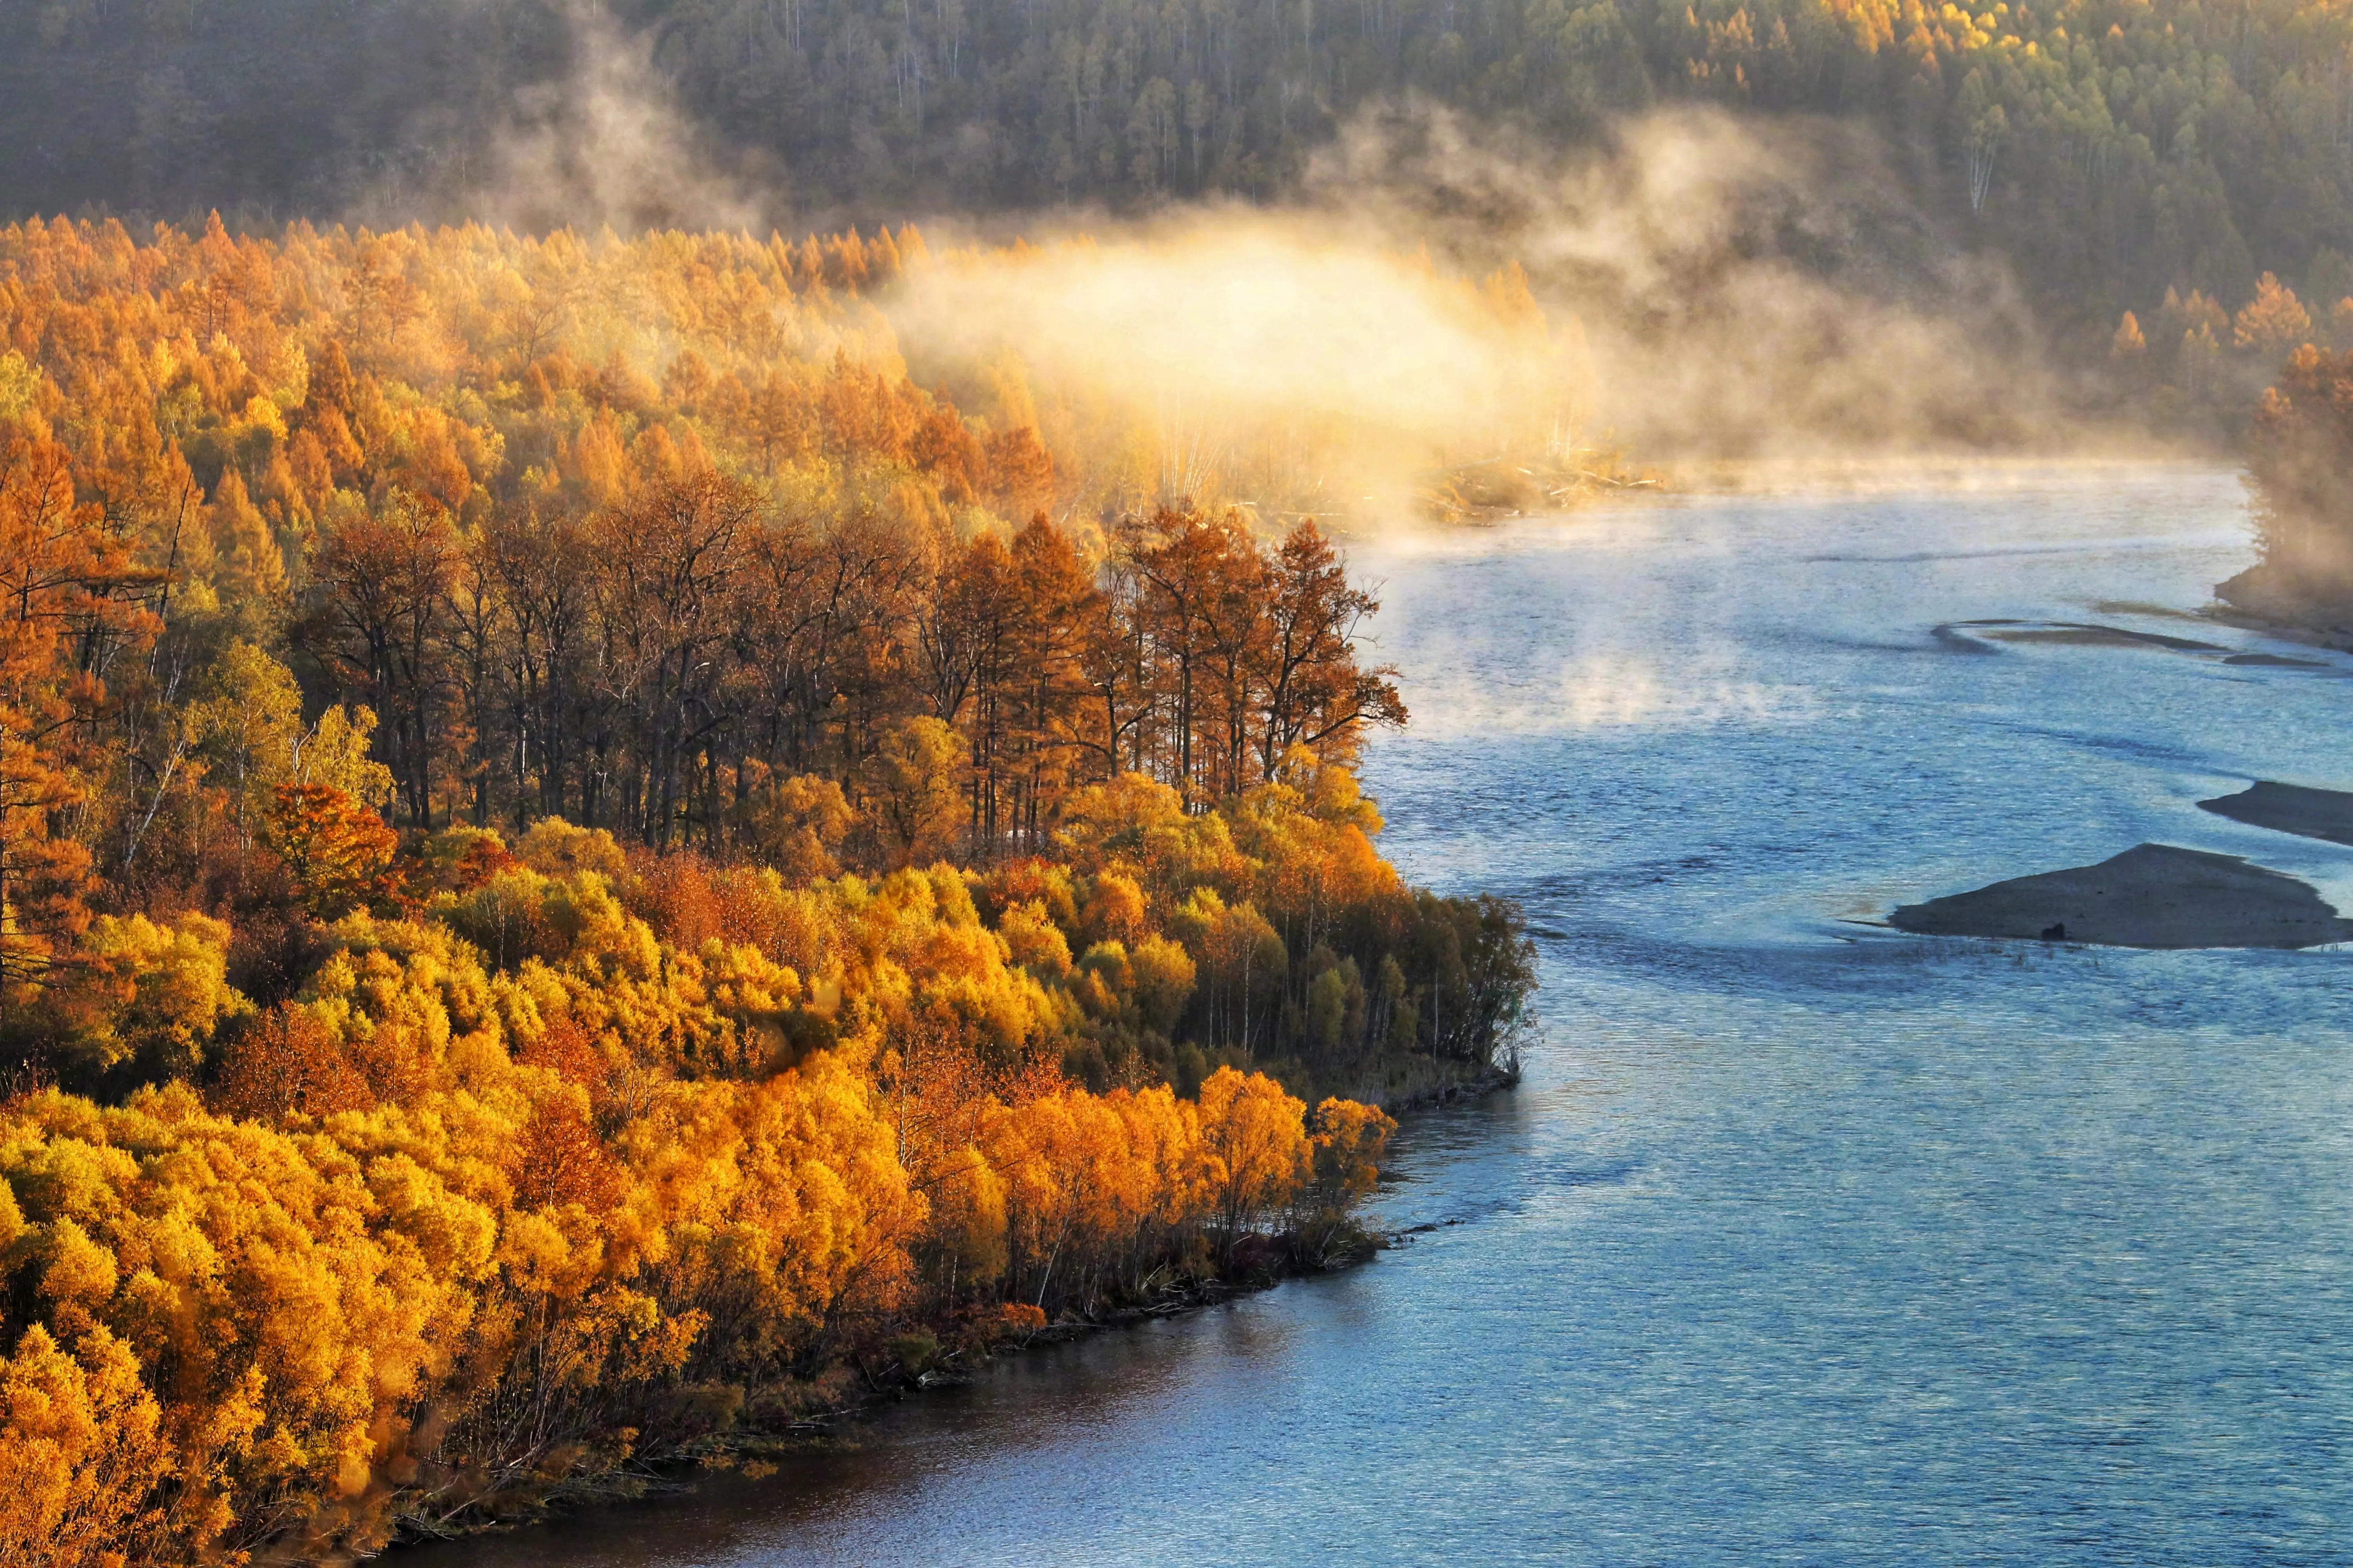
M478 176L518 92L605 89L584 16L9 5L0 209L428 202ZM1706 99L1875 120L1915 195L2085 343L2167 287L2228 310L2266 270L2322 310L2353 294L2344 0L614 0L595 26L647 40L696 134L755 153L798 212L1273 197L1377 99L1562 143Z

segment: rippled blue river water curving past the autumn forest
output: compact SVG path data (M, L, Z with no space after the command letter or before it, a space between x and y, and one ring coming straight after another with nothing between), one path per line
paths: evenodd
M2353 907L2353 851L2195 809L2353 788L2353 661L2179 618L2247 559L2198 468L1360 545L1386 849L1544 952L1527 1084L1400 1140L1438 1229L405 1561L2353 1563L2348 954L1849 924L2144 839Z

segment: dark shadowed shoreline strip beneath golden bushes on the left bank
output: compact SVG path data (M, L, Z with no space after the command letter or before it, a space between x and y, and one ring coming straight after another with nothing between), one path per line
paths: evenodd
M1433 1110L1438 1105L1480 1100L1506 1088L1518 1088L1520 1077L1520 1063L1511 1063L1508 1067L1487 1067L1473 1079L1431 1084L1395 1103L1384 1103L1381 1110L1402 1119L1412 1112ZM489 1514L442 1530L416 1530L414 1521L402 1521L379 1556L400 1561L398 1554L412 1547L456 1544L485 1535L511 1535L558 1519L572 1509L692 1493L694 1472L736 1472L751 1469L753 1465L769 1465L772 1472L774 1460L840 1443L842 1432L854 1429L885 1406L904 1403L908 1396L939 1394L944 1389L960 1389L979 1382L988 1363L998 1356L1016 1356L1033 1347L1068 1345L1115 1328L1134 1328L1136 1324L1193 1316L1195 1312L1224 1307L1242 1300L1245 1295L1264 1295L1289 1279L1311 1279L1315 1274L1355 1269L1393 1246L1405 1244L1409 1237L1431 1229L1438 1227L1409 1225L1405 1229L1369 1232L1351 1225L1353 1237L1348 1237L1346 1246L1325 1260L1308 1260L1301 1253L1297 1229L1249 1237L1235 1251L1238 1255L1252 1255L1252 1269L1235 1279L1198 1279L1172 1288L1151 1305L1118 1307L1092 1319L1045 1324L1042 1328L1033 1328L1019 1338L1007 1338L998 1345L979 1349L969 1363L965 1363L965 1356L969 1354L969 1347L965 1347L948 1352L941 1363L927 1366L913 1375L906 1375L899 1363L885 1366L880 1373L852 1366L849 1371L866 1382L866 1389L847 1403L795 1415L786 1422L748 1425L736 1432L694 1439L659 1458L633 1458L626 1467L598 1476L581 1476L576 1483L558 1483L548 1490L548 1495L539 1497L529 1507L518 1507L513 1514ZM1257 1241L1259 1246L1249 1246L1249 1241Z

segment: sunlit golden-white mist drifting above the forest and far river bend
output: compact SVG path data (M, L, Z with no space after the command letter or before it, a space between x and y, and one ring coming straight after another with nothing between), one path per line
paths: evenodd
M468 216L795 233L791 172L701 139L642 38L574 9ZM1282 207L908 212L878 303L920 378L1035 418L1096 498L1409 508L1454 465L1541 501L1635 463L1840 463L2080 440L1998 261L1859 125L1720 108L1562 148L1428 101L1358 113ZM1026 242L1007 244L1007 235Z

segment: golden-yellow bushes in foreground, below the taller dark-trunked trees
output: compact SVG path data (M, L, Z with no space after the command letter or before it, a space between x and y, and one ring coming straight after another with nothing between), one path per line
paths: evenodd
M1311 1124L1233 1067L1198 1100L1056 1070L1176 1030L1198 987L1212 1027L1261 1006L1287 959L1252 889L1388 886L1332 780L1268 785L1240 830L1169 799L1094 792L1075 877L784 886L555 820L515 856L449 830L424 910L313 926L325 957L264 1016L219 922L94 922L87 1048L209 1086L0 1105L0 1284L31 1312L0 1319L0 1561L198 1561L289 1519L304 1549L374 1549L402 1497L619 1465L908 1324L991 1342L1151 1300L1254 1229L1329 1232L1379 1110ZM1186 889L1167 931L1148 886ZM1082 926L1125 936L1073 961Z

